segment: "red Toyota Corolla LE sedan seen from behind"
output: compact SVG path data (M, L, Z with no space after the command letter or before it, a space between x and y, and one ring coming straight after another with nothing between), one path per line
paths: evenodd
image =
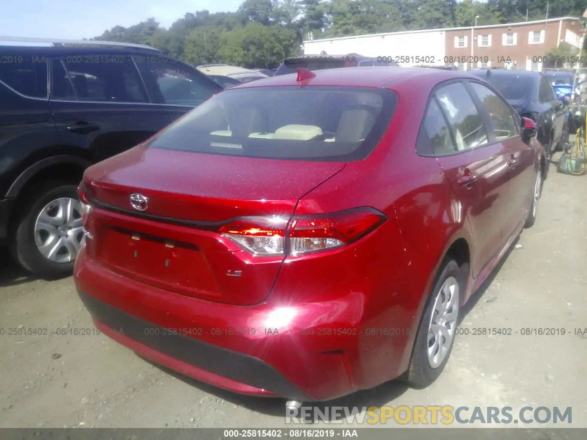
M86 170L77 290L108 336L227 390L296 403L424 387L534 223L535 128L450 70L232 87Z

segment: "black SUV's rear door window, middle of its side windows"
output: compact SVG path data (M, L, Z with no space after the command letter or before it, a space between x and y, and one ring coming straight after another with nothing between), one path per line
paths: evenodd
M53 60L52 99L147 103L130 56L67 56Z

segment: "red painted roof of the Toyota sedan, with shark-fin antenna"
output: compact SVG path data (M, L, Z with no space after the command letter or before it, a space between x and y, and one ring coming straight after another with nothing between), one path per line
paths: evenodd
M353 69L325 69L314 70L316 75L305 82L308 86L360 86L360 87L387 87L397 89L404 82L419 82L422 86L438 82L470 78L463 72L441 69L421 69L420 67L355 67ZM232 87L271 87L271 86L298 86L295 73L288 75L270 76L252 83L244 83Z

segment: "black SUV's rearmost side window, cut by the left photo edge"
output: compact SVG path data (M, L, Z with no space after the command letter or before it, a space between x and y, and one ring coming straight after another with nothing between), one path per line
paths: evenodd
M25 96L47 97L47 62L43 56L0 54L0 81Z

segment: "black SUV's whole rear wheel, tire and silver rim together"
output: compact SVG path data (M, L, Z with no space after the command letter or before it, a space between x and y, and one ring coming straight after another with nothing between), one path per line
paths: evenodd
M11 243L16 261L46 279L71 275L83 238L77 186L45 182L19 213Z

